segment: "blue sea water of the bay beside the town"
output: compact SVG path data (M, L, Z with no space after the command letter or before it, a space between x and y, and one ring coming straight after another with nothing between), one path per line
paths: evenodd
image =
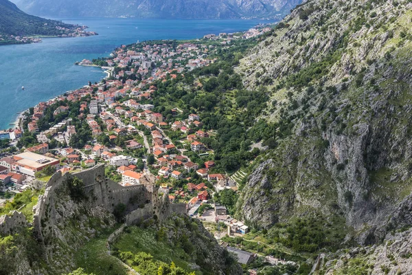
M56 19L56 18L54 18ZM153 39L196 39L205 34L248 30L262 20L161 20L62 18L89 26L98 36L43 39L42 43L0 46L0 129L8 129L19 112L98 82L100 68L76 66L76 61L108 56L120 45ZM22 90L22 87L25 87Z

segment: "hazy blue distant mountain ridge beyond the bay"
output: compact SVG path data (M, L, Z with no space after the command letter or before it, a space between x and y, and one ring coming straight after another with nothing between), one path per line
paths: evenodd
M282 19L301 0L13 0L25 12L54 17Z

